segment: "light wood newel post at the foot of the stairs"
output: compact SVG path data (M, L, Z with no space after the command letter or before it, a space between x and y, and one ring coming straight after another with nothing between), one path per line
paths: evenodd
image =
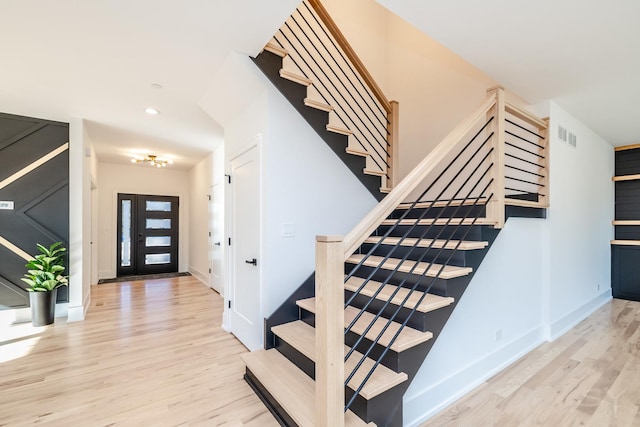
M344 426L344 243L316 236L316 426Z

